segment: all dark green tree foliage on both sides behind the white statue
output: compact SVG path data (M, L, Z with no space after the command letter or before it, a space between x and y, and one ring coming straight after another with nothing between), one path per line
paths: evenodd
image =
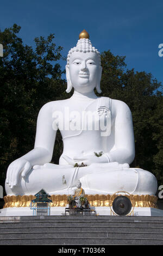
M16 24L0 31L4 57L0 58L0 183L4 185L9 163L34 147L39 109L47 102L70 97L65 93L59 60L61 46L54 43L54 34L35 38L35 48L24 45ZM133 115L136 156L131 167L151 171L158 183L163 167L163 102L161 83L145 71L127 70L125 57L110 51L101 54L101 96L122 100ZM52 162L58 163L62 153L58 132Z

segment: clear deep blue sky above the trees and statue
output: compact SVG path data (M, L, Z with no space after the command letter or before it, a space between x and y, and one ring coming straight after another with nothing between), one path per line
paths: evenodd
M54 33L55 43L67 56L86 29L99 52L110 49L126 56L128 69L151 72L163 84L163 57L158 55L163 44L162 0L6 0L0 8L1 31L17 23L24 44L34 46L36 36Z

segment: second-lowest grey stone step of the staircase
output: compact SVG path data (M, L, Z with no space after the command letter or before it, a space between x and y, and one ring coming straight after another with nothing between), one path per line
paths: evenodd
M121 232L121 231L108 231L108 232L100 232L100 231L81 231L81 232L74 232L74 231L68 231L67 233L62 231L62 232L14 232L14 233L0 233L0 240L4 239L32 239L37 237L37 239L69 239L69 238L81 238L83 237L89 238L94 237L95 238L112 238L115 239L117 237L123 237L124 238L132 238L132 239L160 239L163 242L163 233L149 233L149 232Z

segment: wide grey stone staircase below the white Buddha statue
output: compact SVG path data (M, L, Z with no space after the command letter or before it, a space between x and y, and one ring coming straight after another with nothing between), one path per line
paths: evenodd
M163 245L163 217L0 217L0 245Z

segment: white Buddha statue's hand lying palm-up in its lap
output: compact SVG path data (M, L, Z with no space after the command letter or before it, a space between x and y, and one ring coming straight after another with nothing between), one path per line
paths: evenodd
M70 157L64 157L64 159L71 165L78 163L78 165L82 165L82 163L86 166L90 166L91 163L108 163L108 158L105 155L95 156L95 155L87 155L87 156L75 156L73 159Z

